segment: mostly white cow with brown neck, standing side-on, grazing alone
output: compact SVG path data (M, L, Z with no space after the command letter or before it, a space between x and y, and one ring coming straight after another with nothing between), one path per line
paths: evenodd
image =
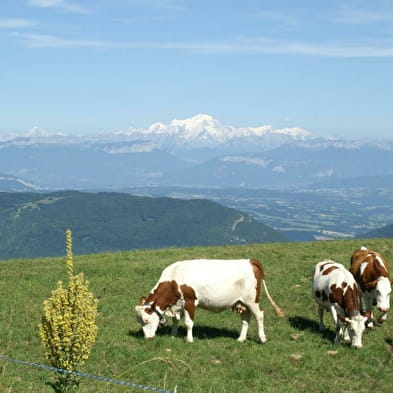
M274 303L265 283L261 263L255 259L194 259L179 261L163 270L150 295L135 307L137 321L145 338L153 338L164 315L172 317L172 335L177 334L179 320L184 316L187 342L193 342L195 309L220 312L232 308L241 316L238 341L245 341L251 314L258 324L258 335L266 342L263 310L259 306L261 284L277 315L282 310Z

